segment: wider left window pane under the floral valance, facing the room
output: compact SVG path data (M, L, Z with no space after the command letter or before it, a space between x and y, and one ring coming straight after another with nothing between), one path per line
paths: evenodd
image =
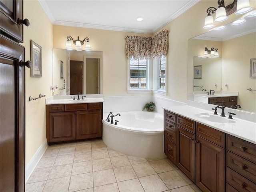
M129 61L130 88L129 89L147 89L148 88L148 61L133 57Z

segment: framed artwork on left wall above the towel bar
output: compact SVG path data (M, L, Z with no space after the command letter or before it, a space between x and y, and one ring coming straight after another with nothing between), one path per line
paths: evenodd
M31 77L42 77L42 48L30 40Z

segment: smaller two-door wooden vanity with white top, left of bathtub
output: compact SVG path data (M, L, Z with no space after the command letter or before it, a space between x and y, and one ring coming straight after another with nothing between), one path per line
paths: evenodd
M102 98L46 100L48 143L102 138L103 102Z

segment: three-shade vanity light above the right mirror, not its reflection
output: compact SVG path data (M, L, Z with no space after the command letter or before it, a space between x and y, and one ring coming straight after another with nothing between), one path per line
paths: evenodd
M212 28L215 26L214 22L222 22L228 19L228 15L236 12L236 14L243 14L252 9L249 0L234 0L232 4L225 6L224 0L218 0L218 8L209 7L206 10L207 16L204 20L204 28ZM215 13L215 19L211 14Z

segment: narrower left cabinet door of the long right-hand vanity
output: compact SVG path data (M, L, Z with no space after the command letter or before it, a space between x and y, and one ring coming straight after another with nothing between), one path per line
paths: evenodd
M177 126L176 165L193 182L195 180L195 134Z

